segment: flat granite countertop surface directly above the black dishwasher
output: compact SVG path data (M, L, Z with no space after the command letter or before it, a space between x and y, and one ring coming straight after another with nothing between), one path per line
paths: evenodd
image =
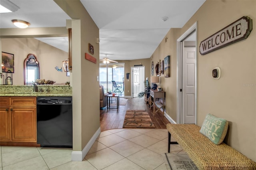
M46 93L46 92L21 92L21 93L0 93L0 97L72 97L72 94L66 93Z

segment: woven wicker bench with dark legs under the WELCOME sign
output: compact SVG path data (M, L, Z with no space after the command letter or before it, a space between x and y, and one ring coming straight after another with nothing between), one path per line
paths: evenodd
M234 148L211 142L191 124L167 124L168 152L171 144L179 144L200 170L256 170L256 163ZM171 142L171 135L176 142Z

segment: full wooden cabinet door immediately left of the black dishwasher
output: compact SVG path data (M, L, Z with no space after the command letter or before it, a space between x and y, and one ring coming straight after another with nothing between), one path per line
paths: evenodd
M11 107L12 141L36 141L36 107Z

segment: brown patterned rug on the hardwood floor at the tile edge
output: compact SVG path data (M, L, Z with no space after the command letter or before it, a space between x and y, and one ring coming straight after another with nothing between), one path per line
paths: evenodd
M155 128L147 111L127 110L123 128Z

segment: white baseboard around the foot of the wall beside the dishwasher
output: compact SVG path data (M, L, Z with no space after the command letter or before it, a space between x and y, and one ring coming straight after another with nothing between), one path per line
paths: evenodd
M99 135L100 135L100 127L94 133L94 135L92 136L92 138L89 140L89 142L86 144L86 146L84 147L84 149L82 151L72 151L71 160L72 161L82 161L84 159L84 157L86 156L86 154L89 152L90 148L92 147L92 145L94 144L95 140L97 139L97 137Z

